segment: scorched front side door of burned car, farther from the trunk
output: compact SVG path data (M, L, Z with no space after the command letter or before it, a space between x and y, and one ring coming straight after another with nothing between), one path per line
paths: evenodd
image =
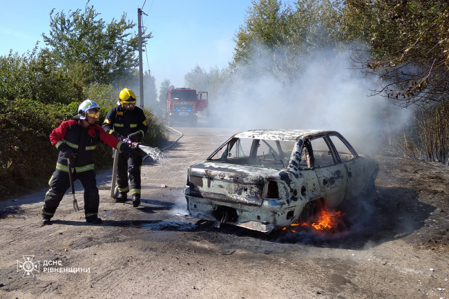
M343 136L329 135L329 140L336 151L339 162L345 167L347 173L346 197L353 198L361 195L366 184L363 159L357 155Z

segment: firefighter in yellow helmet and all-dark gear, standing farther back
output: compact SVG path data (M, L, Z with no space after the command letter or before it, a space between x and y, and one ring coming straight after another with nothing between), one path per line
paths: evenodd
M144 111L135 106L137 97L132 90L124 88L119 95L117 106L109 110L104 119L103 128L109 134L118 139L129 139L131 142L140 142L147 133ZM133 206L140 204L140 167L143 164L142 156L129 157L126 152L120 151L117 164L117 186L115 202L126 202L129 192L129 180L131 182L131 195Z

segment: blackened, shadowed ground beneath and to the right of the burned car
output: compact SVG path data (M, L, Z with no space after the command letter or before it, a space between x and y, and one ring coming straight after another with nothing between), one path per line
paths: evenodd
M405 238L424 225L434 206L418 200L412 189L378 187L379 193L359 200L347 201L339 207L344 213L343 224L332 233L314 228L298 229L292 226L285 231L264 234L238 226L222 225L213 228L214 222L205 222L197 230L218 231L239 237L258 238L270 242L300 243L314 247L336 249L364 249L383 242Z

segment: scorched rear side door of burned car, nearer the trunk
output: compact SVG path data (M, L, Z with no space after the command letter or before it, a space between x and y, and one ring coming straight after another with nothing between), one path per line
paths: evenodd
M338 163L326 137L309 139L307 148L310 166L314 167L327 206L338 206L343 201L347 186L345 166ZM306 143L307 144L307 143Z

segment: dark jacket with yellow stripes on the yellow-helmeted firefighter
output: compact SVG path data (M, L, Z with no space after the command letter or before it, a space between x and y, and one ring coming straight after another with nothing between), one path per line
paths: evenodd
M144 111L137 106L132 111L125 110L121 105L114 106L106 115L103 128L104 131L119 139L140 131L142 135L137 142L140 142L148 131Z

